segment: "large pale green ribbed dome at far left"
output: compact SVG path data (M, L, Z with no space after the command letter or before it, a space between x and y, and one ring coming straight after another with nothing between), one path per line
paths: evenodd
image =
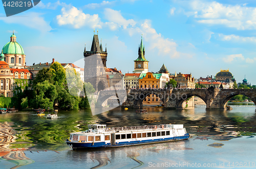
M24 54L24 50L18 42L8 42L3 47L3 53L4 54Z

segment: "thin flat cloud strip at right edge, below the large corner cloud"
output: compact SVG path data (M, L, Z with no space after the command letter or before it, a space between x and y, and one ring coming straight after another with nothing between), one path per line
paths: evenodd
M256 42L256 37L242 37L238 35L223 35L219 34L219 38L222 41L232 41L232 42Z

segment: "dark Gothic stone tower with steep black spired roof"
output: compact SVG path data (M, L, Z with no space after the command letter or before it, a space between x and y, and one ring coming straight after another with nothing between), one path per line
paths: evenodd
M106 77L106 60L108 52L103 51L102 44L99 44L98 31L93 36L91 50L87 51L86 46L83 51L84 57L84 82L90 82L96 91L109 88Z

